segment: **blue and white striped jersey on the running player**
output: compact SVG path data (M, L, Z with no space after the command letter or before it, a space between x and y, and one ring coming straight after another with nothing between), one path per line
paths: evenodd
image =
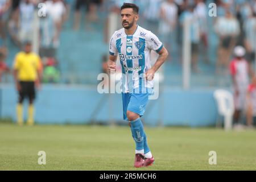
M126 35L125 28L115 31L110 39L110 55L119 55L122 65L122 92L144 92L153 88L154 82L144 79L144 73L151 68L150 52L159 52L162 42L153 34L140 26L133 35ZM135 91L134 91L135 90Z

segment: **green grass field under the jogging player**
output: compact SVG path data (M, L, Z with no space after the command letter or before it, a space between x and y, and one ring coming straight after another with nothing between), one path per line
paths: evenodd
M136 169L129 127L0 123L0 170L255 170L256 131L150 128L154 166ZM46 151L46 165L38 164ZM209 165L209 151L217 165Z

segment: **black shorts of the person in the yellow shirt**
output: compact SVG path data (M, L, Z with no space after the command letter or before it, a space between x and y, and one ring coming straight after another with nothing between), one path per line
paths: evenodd
M19 101L23 101L28 97L30 100L35 99L35 82L34 81L20 81L21 90L19 91Z

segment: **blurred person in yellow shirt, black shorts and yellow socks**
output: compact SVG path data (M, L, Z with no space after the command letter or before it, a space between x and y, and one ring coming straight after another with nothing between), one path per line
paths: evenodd
M24 44L24 52L19 52L14 60L14 81L19 93L19 101L16 107L18 125L23 125L23 100L28 97L28 119L27 125L34 125L34 99L35 86L40 86L40 57L31 52L30 42Z

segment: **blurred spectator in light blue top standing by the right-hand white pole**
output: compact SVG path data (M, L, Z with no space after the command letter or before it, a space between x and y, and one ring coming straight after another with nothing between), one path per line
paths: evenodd
M183 24L185 19L188 19L190 22L190 42L191 42L191 53L192 53L192 71L199 72L199 68L197 65L198 55L199 55L199 43L200 43L200 24L199 17L194 13L194 6L189 5L187 10L185 10L180 15L180 22Z

